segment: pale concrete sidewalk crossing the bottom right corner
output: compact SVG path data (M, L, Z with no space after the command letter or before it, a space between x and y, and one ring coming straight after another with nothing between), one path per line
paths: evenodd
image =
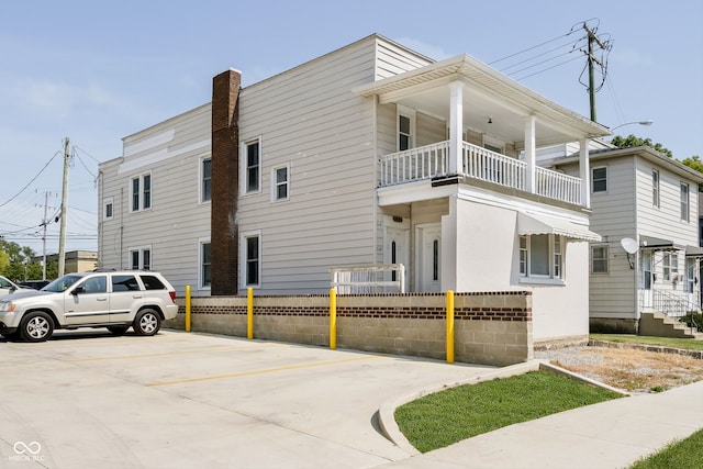
M703 428L703 381L511 425L383 467L626 468Z

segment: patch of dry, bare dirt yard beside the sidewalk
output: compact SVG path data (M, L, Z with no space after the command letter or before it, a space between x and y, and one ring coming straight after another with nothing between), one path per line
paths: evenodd
M685 355L610 347L565 347L535 358L629 392L660 392L703 380L703 359Z

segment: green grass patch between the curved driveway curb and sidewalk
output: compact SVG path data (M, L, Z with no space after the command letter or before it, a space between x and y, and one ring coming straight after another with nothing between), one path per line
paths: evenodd
M395 421L421 453L514 423L527 422L621 395L548 371L462 386L395 410Z

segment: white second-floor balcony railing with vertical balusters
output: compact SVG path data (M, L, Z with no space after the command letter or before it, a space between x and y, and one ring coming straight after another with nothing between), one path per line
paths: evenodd
M460 176L527 191L527 165L515 158L464 142ZM439 142L380 159L380 187L449 175L449 142ZM581 179L550 169L535 168L533 192L549 199L581 203Z

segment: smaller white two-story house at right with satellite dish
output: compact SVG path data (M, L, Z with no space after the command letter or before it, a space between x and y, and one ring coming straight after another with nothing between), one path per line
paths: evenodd
M553 164L579 170L578 158ZM649 147L601 145L590 166L591 230L602 236L590 246L591 331L637 334L651 331L654 312L699 310L703 175Z

